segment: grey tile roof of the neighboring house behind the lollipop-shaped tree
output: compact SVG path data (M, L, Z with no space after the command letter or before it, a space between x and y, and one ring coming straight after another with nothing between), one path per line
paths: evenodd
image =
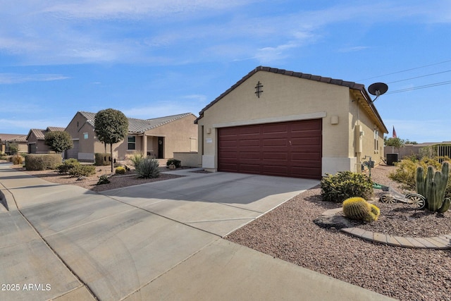
M96 113L82 112L80 113L87 118L87 122L94 127L94 118ZM161 125L176 121L180 118L190 116L192 113L183 113L178 115L171 115L166 117L152 118L152 119L137 119L128 118L128 133L144 133L146 130L158 128Z

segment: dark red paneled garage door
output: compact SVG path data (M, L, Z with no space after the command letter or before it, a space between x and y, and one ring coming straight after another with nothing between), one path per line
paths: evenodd
M321 178L322 121L218 128L218 171Z

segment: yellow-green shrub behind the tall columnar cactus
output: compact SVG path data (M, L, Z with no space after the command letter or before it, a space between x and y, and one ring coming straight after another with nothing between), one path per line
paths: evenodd
M440 170L442 164L440 161L449 160L447 157L428 157L424 156L420 160L416 159L414 156L408 156L402 159L400 162L395 163L397 167L393 173L388 175L388 178L396 181L397 183L402 183L402 188L407 190L416 189L416 168L423 167L426 171L428 166L432 166L434 171ZM451 188L450 188L451 189Z

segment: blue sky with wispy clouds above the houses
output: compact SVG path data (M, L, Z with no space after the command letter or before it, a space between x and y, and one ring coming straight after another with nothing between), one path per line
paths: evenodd
M451 1L0 0L0 133L199 111L257 66L388 83L392 135L451 140Z

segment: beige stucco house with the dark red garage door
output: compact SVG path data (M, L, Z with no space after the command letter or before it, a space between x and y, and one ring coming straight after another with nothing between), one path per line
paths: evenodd
M195 122L207 171L315 179L378 164L388 133L364 85L262 66Z

